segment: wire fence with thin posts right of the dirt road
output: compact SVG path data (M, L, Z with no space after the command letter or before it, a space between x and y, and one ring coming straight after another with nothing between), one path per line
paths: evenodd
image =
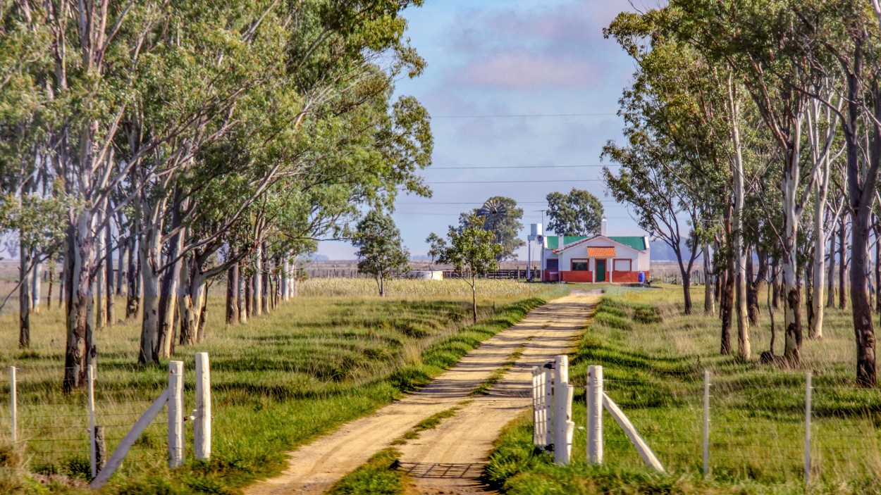
M611 378L603 380L603 392L625 412L668 471L769 484L877 479L881 392L820 376L813 377L809 394L807 380L796 373L775 378L710 376L706 446L703 383ZM574 410L580 427L587 421L584 405ZM604 462L644 467L625 432L604 415ZM586 442L586 431L576 428L576 457L585 455Z

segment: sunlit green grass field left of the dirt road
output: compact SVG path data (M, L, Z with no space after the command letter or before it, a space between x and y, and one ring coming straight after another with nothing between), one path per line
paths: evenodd
M278 472L285 451L389 403L452 366L489 336L566 287L478 283L478 325L462 281L399 281L389 296L370 280L310 280L300 297L246 325L223 323L212 296L207 340L178 347L185 362L185 408L195 405L194 353L211 356L214 454L169 471L162 419L148 429L106 493L235 493ZM549 292L549 290L551 292ZM556 292L554 292L556 291ZM122 307L122 302L117 302ZM19 351L16 314L0 316L0 364L19 367L19 441L10 447L8 401L0 402L0 493L78 492L88 479L85 394L63 395L64 329L54 309L33 316L33 348ZM166 366L133 366L140 321L96 332L97 422L116 446L167 383ZM3 380L0 397L8 396ZM189 424L188 437L191 436ZM42 482L42 483L38 483ZM40 490L38 490L38 487Z

